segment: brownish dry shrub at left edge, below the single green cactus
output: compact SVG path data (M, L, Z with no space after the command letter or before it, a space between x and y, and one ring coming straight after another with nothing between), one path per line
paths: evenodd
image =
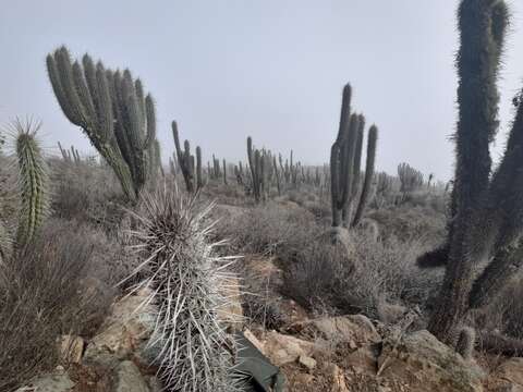
M88 335L112 293L89 280L94 245L83 228L52 220L41 237L0 266L0 390L56 366L61 334Z

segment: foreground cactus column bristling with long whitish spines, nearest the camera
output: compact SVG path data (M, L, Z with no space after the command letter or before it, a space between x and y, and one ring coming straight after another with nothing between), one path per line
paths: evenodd
M144 260L134 272L143 280L133 290L150 289L143 305L155 304L151 344L159 347L155 363L166 391L240 391L235 342L220 319L234 279L226 267L233 260L216 254L221 242L209 243L210 206L198 211L195 201L175 186L144 197L133 213L135 248Z

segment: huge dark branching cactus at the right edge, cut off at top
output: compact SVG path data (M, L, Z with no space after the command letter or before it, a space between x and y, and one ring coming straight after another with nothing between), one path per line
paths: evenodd
M502 0L462 0L459 9L459 120L446 275L428 329L455 344L471 308L487 304L519 269L523 222L523 106L490 179L498 127L497 78L508 25ZM491 259L474 281L474 265Z

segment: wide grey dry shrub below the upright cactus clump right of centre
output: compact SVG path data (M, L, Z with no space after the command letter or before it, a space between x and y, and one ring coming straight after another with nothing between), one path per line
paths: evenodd
M380 303L423 305L438 287L440 273L419 273L417 240L390 236L374 241L352 231L344 253L328 241L304 246L296 261L285 265L285 294L313 309L364 313L377 317Z

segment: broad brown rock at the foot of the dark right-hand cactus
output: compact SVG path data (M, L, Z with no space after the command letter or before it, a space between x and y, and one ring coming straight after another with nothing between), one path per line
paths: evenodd
M384 342L378 358L380 376L410 381L413 391L479 392L483 370L438 341L428 331L416 331L401 342Z

